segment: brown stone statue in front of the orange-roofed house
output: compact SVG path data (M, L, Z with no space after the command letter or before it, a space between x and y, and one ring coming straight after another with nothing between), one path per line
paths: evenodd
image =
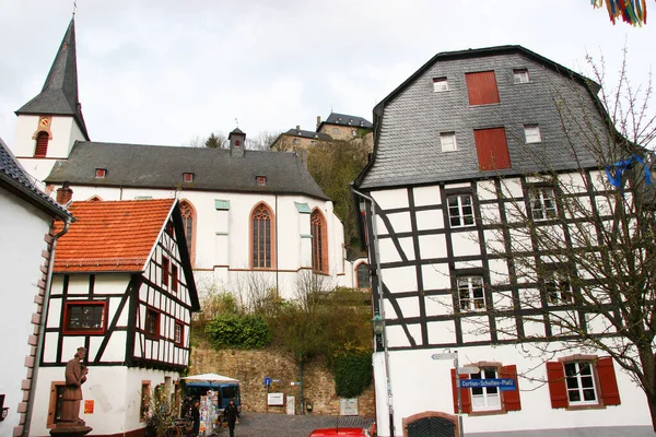
M86 356L84 347L78 347L75 356L66 364L66 387L61 400L61 420L57 424L61 427L84 426L80 418L80 403L82 401L82 385L86 381L89 373L82 363Z

